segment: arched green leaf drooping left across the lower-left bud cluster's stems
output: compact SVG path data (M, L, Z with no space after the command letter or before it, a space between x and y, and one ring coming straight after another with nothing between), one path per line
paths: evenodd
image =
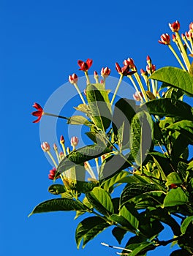
M65 170L69 170L76 165L83 164L83 162L86 162L88 160L100 157L103 154L109 153L110 151L110 148L103 148L97 145L85 146L83 148L72 151L59 163L57 168L57 174L63 173Z

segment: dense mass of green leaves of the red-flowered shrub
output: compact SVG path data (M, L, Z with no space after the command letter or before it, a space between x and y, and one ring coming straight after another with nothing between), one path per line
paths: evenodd
M137 79L137 69L130 67ZM149 62L148 67L153 69L154 65ZM88 69L83 70L88 103L76 109L85 116L72 116L68 124L86 125L92 144L60 159L55 178L61 178L63 184L53 184L49 192L61 198L40 203L31 214L76 211L75 218L91 214L77 225L78 248L113 227L112 234L119 244L132 233L123 250L127 255L146 255L170 243L180 247L171 255L192 255L193 160L189 146L193 144L193 111L183 101L184 94L193 96L189 70L192 66L186 71L176 67L151 70L151 76L145 74L145 95L145 86L142 89L137 81L143 92L140 105L121 98L114 108L105 79L89 83ZM162 97L157 93L158 81L162 82ZM88 164L92 159L96 161L98 179ZM85 169L91 173L88 182L77 178L78 171L85 177ZM124 188L117 197L114 190L119 185ZM170 227L173 237L160 241L164 225Z

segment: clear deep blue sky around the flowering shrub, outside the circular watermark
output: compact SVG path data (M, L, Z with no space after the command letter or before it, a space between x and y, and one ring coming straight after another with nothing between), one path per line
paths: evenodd
M39 124L32 124L31 105L44 105L69 74L82 75L78 59L93 59L91 72L110 67L116 77L115 62L129 57L139 69L145 69L147 55L157 68L178 67L157 41L170 32L169 22L179 20L181 32L187 31L192 7L186 0L1 0L0 256L116 255L100 245L117 245L110 230L77 250L79 219L73 221L72 213L27 217L37 203L50 198L51 184L51 167L40 148ZM164 252L162 247L149 255Z

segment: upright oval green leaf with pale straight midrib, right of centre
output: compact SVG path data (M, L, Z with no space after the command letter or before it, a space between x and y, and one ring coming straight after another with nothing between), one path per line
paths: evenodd
M142 165L151 148L154 123L149 113L141 111L132 118L130 147L137 165Z

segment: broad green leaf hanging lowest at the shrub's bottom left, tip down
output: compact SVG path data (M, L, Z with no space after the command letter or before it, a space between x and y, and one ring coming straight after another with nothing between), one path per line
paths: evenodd
M109 227L110 225L105 222L104 219L101 219L100 217L88 217L86 219L83 219L82 222L80 222L77 225L75 239L77 248L80 247L80 243L83 240L83 247L86 246L88 241L93 239L95 236L97 236L99 233L102 232L106 227Z

